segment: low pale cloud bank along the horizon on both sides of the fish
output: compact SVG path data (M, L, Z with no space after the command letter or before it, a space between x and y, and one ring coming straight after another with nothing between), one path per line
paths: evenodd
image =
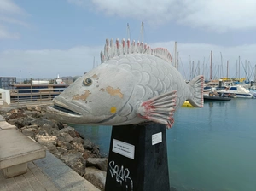
M160 42L150 44L151 47L164 47L170 50L173 55L174 42ZM223 47L204 43L177 43L179 52L179 71L184 78L191 77L189 69L189 55L191 61L195 61L195 75L204 74L210 77L210 53L212 57L212 78L226 76L227 60L229 60L229 77L236 78L236 60L241 56L240 77L250 77L254 79L254 66L248 61L255 61L253 54L256 44L242 45L237 47ZM76 76L89 72L93 67L95 56L96 63L100 64L100 51L102 47L74 47L72 49L42 49L42 50L6 50L0 53L1 75L16 76L21 78L55 78L60 76ZM221 55L223 64L221 64ZM203 61L205 57L204 69ZM245 64L247 60L247 65ZM198 66L198 61L200 65ZM200 69L199 69L200 68ZM247 70L247 75L245 73ZM21 74L20 74L21 71ZM193 75L193 74L192 74Z

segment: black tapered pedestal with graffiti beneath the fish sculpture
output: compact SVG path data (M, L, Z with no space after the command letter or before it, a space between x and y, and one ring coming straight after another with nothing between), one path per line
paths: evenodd
M105 191L169 191L166 125L113 126Z

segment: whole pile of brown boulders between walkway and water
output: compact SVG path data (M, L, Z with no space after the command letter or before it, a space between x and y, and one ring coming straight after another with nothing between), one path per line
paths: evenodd
M108 159L101 156L98 146L81 136L73 127L47 119L46 107L47 105L4 110L0 108L0 115L24 135L47 148L80 176L103 190Z

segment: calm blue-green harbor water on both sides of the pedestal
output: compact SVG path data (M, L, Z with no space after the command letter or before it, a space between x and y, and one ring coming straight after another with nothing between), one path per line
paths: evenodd
M166 130L170 186L183 190L256 190L256 99L177 109ZM76 126L108 155L112 127Z

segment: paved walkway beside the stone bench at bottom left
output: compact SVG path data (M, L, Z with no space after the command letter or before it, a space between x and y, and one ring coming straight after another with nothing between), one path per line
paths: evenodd
M99 191L49 151L46 157L28 163L26 174L4 178L0 171L0 191Z

